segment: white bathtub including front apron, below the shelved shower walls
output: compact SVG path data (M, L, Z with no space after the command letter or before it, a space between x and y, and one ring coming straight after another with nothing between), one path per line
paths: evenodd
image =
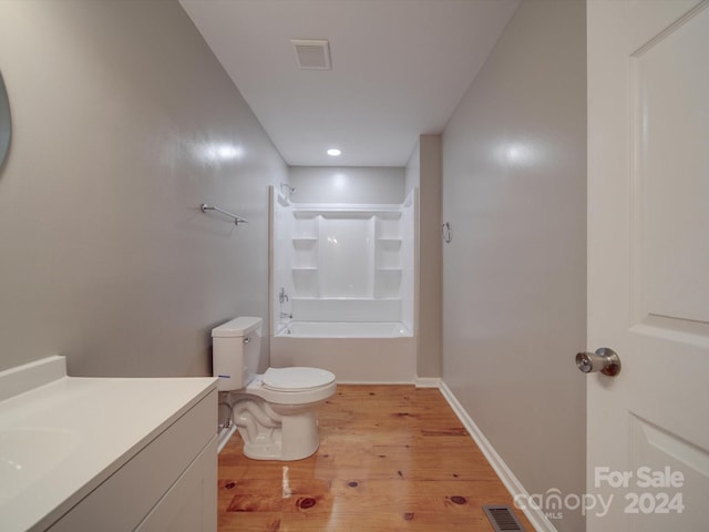
M340 383L415 381L415 338L401 323L290 321L270 338L270 366L332 371Z

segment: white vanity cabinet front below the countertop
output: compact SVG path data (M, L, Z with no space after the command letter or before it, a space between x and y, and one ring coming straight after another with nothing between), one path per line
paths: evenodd
M216 532L216 417L214 389L45 530Z

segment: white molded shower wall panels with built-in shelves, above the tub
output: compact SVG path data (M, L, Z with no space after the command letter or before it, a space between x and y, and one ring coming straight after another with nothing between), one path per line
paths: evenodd
M274 323L413 326L413 194L401 205L274 201ZM274 331L277 334L277 331Z

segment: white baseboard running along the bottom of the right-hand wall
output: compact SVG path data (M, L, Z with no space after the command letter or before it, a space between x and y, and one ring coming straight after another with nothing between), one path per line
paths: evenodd
M518 495L518 498L524 501L530 500L530 493L527 490L524 489L502 457L497 454L497 451L495 451L487 438L485 438L485 434L483 434L480 428L475 424L475 421L473 421L470 415L465 411L451 389L443 381L441 381L439 389L470 436L475 440L475 443L477 443L477 447L487 459L487 462L490 462L490 466L492 466L492 469L497 473L502 483L507 488L510 494L513 498ZM541 509L534 510L527 505L523 512L537 532L557 532L556 528L552 524L548 518L544 515L544 512Z

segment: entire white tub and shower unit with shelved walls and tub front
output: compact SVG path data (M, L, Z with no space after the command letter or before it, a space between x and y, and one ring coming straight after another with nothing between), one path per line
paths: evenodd
M414 197L291 204L274 193L271 366L340 382L415 379Z

